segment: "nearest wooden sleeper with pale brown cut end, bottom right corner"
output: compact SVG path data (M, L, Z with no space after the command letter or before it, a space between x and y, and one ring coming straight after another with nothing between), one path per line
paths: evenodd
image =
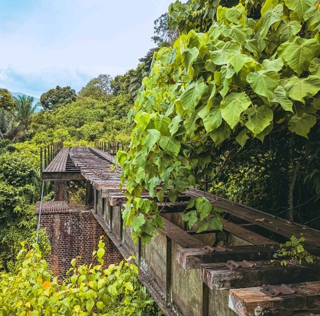
M320 308L320 282L294 283L298 293L269 297L261 286L230 289L229 307L239 316L292 315L293 311Z

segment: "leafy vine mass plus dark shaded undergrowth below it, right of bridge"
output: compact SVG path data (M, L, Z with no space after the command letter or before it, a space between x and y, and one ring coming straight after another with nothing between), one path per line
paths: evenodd
M176 1L169 25L179 37L154 53L117 155L134 237L162 224L143 189L174 201L190 186L318 227L319 2ZM190 227L221 227L204 197L187 208Z

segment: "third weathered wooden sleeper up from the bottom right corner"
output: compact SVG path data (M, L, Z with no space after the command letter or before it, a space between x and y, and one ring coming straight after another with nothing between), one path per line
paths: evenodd
M180 249L176 253L179 264L185 269L196 269L201 263L226 262L227 260L268 260L275 249L272 245L230 246L231 251L206 252L201 248Z

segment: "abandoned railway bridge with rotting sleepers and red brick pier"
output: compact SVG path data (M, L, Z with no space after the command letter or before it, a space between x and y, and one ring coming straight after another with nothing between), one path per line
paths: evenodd
M42 179L55 182L55 201L41 204L40 224L51 239L50 260L57 273L76 255L90 259L104 234L109 240L106 262L134 255L140 281L165 315L302 316L320 311L320 264L270 261L277 241L291 235L303 235L306 247L319 254L318 230L206 193L225 211L223 231L196 233L197 224L188 230L181 220L188 199L203 196L190 188L175 203L159 203L164 229L157 229L148 244L134 244L131 228L122 227L121 170L110 170L117 149L114 143L69 148L59 142L41 150ZM85 187L86 206L72 208L65 201L68 181Z

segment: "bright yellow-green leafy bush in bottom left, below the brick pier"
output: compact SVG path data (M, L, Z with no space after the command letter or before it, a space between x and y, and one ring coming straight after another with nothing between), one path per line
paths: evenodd
M22 260L13 274L0 273L0 314L9 315L149 315L162 313L138 281L131 258L103 266L104 242L90 265L76 259L63 280L52 276L37 244L22 242Z

